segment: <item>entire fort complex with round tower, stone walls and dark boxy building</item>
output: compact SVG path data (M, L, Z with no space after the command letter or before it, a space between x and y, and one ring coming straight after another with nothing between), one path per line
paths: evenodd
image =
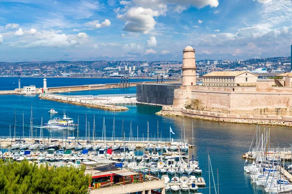
M247 71L211 72L197 85L196 69L195 50L188 46L183 49L182 83L137 85L137 100L165 105L163 111L177 114L193 110L235 118L292 115L291 73L279 75L280 80L258 80Z

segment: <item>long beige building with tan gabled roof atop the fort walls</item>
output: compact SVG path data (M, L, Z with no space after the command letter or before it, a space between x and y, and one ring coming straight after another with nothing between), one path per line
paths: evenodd
M257 75L248 71L214 71L202 78L204 86L256 86Z

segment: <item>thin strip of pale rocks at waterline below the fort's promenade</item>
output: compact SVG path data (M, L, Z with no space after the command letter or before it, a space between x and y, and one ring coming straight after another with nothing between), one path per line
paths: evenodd
M217 119L211 119L211 118L204 118L200 117L198 115L183 115L179 113L165 113L163 110L156 113L157 115L163 115L163 116L181 116L181 117L187 117L187 118L193 118L201 121L213 121L213 122L225 122L225 123L234 123L234 124L250 124L250 125L274 125L274 126L281 126L281 127L292 127L292 124L290 123L284 123L280 121L259 121L259 120L244 120L244 119L234 119L234 120L217 120Z

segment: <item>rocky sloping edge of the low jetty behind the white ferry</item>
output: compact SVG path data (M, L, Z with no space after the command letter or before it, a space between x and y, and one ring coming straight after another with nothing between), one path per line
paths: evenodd
M90 103L85 103L85 102L56 99L56 98L44 97L44 96L39 96L39 98L45 99L45 100L53 100L56 102L62 102L62 103L67 103L67 104L73 104L77 106L85 106L85 107L94 108L94 109L101 109L101 110L106 110L106 111L128 111L129 110L127 107L123 107L123 106L90 104Z

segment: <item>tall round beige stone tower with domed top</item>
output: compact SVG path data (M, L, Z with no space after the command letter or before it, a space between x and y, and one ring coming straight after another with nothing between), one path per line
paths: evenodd
M196 85L196 58L192 47L183 49L183 86Z

